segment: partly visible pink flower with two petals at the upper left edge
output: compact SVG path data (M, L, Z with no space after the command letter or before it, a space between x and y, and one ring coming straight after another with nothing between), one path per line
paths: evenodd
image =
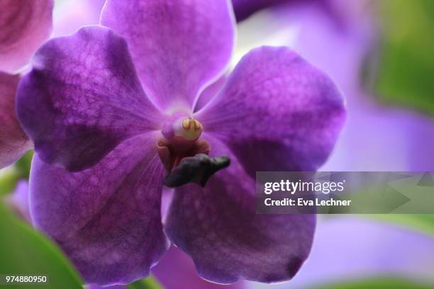
M22 68L51 32L52 0L0 1L0 169L33 147L18 124L15 93Z

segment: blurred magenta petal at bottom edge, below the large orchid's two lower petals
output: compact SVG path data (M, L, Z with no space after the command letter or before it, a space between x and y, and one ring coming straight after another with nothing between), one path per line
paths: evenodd
M208 282L197 276L191 258L181 250L172 246L162 257L157 266L152 268L152 274L165 289L201 288L201 289L241 289L245 288L243 282L232 285L219 285Z

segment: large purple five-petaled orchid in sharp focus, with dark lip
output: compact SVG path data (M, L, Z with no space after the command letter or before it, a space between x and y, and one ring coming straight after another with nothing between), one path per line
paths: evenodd
M332 81L260 47L196 110L230 59L229 1L107 1L101 24L48 41L18 89L36 227L88 283L147 276L167 239L206 280L292 278L316 217L257 215L255 171L325 162L345 119ZM163 181L177 187L164 226Z

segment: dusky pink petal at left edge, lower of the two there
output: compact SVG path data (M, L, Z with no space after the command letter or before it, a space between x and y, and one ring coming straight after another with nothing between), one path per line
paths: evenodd
M16 86L20 77L0 72L0 169L32 147L15 115Z

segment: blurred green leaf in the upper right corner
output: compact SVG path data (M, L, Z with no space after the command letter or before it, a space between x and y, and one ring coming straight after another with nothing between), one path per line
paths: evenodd
M374 94L388 104L434 115L434 1L375 1L381 38ZM372 60L374 59L372 57Z

